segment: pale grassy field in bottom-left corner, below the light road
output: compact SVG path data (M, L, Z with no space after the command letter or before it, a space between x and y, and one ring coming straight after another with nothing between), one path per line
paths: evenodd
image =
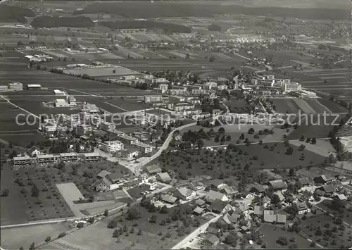
M44 242L46 237L56 237L61 232L69 229L69 223L52 223L44 225L32 225L27 227L13 227L1 229L1 247L4 249L24 249L34 242ZM20 235L20 237L18 237Z

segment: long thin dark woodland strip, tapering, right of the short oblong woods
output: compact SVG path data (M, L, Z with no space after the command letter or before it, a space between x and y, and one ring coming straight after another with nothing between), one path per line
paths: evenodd
M191 28L184 25L174 23L159 23L153 21L116 21L116 22L99 22L99 25L110 27L113 29L141 29L147 28L151 30L165 30L167 32L190 33Z

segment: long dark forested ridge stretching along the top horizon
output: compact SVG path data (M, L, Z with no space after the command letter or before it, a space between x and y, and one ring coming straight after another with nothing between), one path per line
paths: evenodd
M246 7L240 5L224 5L215 3L201 4L196 2L139 2L136 8L135 2L119 3L94 3L83 10L75 13L113 13L125 18L158 18L158 17L182 17L197 16L210 17L221 14L243 14L243 15L274 15L292 18L312 20L349 20L351 10L327 8L284 8L284 7Z

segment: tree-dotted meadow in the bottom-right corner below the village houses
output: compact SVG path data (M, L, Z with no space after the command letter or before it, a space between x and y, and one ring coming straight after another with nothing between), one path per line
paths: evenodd
M340 226L334 223L334 219L329 215L317 215L301 221L301 232L324 248L344 249L351 246L352 230L346 225Z

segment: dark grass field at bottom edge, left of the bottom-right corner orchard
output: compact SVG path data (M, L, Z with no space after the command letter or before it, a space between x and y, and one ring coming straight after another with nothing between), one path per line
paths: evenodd
M266 243L268 249L291 249L294 244L296 244L296 248L298 249L318 249L318 246L310 246L310 242L307 239L297 235L295 232L283 230L283 227L277 225L264 223L259 228L259 232L264 235L263 242ZM276 241L279 237L286 237L289 244L287 246L278 244ZM289 241L292 237L295 239L294 242Z

